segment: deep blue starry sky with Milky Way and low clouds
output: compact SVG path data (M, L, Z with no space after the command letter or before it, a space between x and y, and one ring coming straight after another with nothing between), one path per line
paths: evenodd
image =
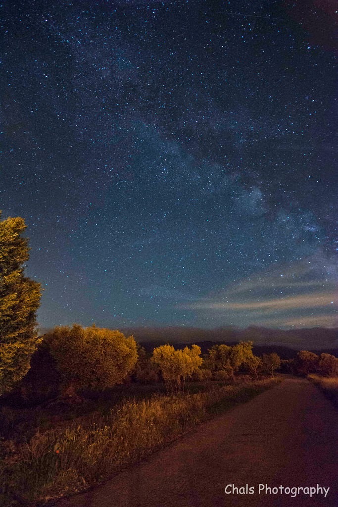
M334 2L5 0L41 328L333 327Z

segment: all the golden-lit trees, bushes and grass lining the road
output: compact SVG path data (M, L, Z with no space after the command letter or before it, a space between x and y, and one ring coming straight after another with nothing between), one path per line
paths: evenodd
M79 324L38 337L24 230L20 218L0 221L0 505L43 505L97 484L275 385L276 371L316 374L336 400L330 354L281 361L255 356L252 341L204 356L196 344L146 352L119 330Z

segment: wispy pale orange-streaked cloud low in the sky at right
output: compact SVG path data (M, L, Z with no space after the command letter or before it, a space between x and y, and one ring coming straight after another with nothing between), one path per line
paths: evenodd
M337 292L332 260L312 258L276 266L235 281L222 293L179 306L214 316L226 325L304 327L337 325ZM333 274L333 276L332 276Z

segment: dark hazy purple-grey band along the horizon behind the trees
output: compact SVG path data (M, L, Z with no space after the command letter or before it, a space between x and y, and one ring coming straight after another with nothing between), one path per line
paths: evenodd
M252 340L255 347L264 347L277 351L276 347L298 350L312 350L316 352L332 353L338 351L337 328L310 328L310 329L268 329L250 326L247 329L238 328L124 328L125 334L133 335L138 342L158 346L163 343L238 343ZM210 348L210 347L208 347ZM329 350L328 350L329 349ZM331 352L330 352L331 351ZM337 354L334 354L337 355ZM282 356L282 355L281 355Z

